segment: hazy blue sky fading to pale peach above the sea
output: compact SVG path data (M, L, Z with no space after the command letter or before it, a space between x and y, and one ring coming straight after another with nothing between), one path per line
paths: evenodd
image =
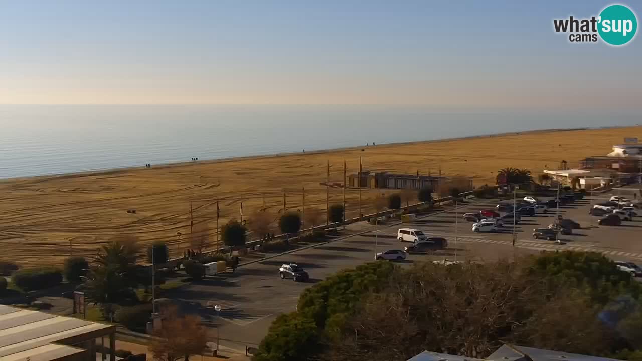
M553 31L607 4L0 0L0 104L642 112L639 35L616 48Z

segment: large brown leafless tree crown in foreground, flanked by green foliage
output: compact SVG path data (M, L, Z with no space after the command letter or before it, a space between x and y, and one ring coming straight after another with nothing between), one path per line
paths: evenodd
M444 266L426 262L408 271L397 269L388 289L370 295L358 313L348 319L343 337L334 341L325 358L407 360L426 349L483 358L503 341L513 341L507 339L511 330L524 327L525 319L536 320L528 319L528 315L539 317L540 310L548 312L546 303L550 296L546 285L518 263ZM563 303L564 297L556 300ZM556 309L562 311L572 306L563 304ZM560 314L564 314L563 320ZM566 315L550 313L548 320L557 319L557 323L532 321L533 327L519 335L519 339L558 335L556 327L573 322ZM541 328L537 328L538 324ZM598 322L580 324L589 328L582 331L591 340L587 342L597 342ZM574 339L570 335L562 338L551 340L550 345ZM596 343L600 344L603 343Z

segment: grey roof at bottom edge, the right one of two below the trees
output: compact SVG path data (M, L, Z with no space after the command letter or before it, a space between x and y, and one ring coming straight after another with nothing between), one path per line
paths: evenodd
M490 361L615 361L612 358L578 355L548 349L526 348L523 346L503 345L492 353Z

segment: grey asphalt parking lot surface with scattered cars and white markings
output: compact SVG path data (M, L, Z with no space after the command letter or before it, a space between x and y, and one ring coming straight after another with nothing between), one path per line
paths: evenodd
M494 209L498 200L467 202L458 209L447 209L413 222L379 225L377 231L374 225L366 222L351 224L333 242L244 265L234 274L208 277L177 289L171 297L180 299L200 313L206 324L219 325L221 347L241 350L245 345L254 346L260 342L277 315L295 310L299 294L304 288L338 270L374 260L375 251L403 249L409 245L397 240L397 229L400 227L417 228L428 235L444 236L449 242L447 249L432 255L412 254L407 260L399 262L402 265L410 265L417 260L444 258L490 261L565 249L602 252L614 260L642 261L642 242L639 242L642 216L639 220L623 222L620 226L602 226L597 224L600 217L588 213L592 203L610 196L606 193L587 196L560 206L559 215L581 225L581 229L574 229L573 234L562 236L562 244L532 238L534 228L546 227L553 222L555 209L546 215L523 216L515 227L517 240L515 247L512 247L512 224L501 227L498 233L475 233L471 229L472 222L462 219L466 212ZM310 281L296 283L281 279L279 266L282 263L297 263L304 267L309 272ZM222 308L219 317L213 310L215 304ZM214 337L214 328L212 332Z

